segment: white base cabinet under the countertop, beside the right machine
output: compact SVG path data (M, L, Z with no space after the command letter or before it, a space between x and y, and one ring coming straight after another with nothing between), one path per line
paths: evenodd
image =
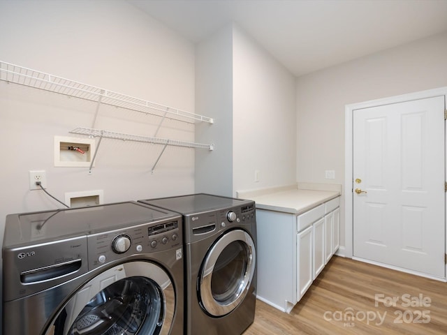
M339 247L339 197L296 215L256 209L258 299L290 313Z

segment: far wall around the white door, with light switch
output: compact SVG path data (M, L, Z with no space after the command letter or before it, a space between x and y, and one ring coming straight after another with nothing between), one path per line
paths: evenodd
M297 181L344 184L345 105L447 86L446 54L447 33L299 77Z

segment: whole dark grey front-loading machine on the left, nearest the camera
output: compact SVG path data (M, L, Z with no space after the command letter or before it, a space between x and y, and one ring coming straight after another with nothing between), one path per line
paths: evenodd
M11 214L3 334L183 334L182 216L138 202Z

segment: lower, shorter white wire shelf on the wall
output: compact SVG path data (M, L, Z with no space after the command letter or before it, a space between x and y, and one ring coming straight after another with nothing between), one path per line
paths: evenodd
M73 131L70 131L70 133L79 134L79 135L88 135L91 137L113 138L115 140L171 145L171 146L175 146L175 147L187 147L187 148L198 148L198 149L208 149L208 150L214 149L214 146L212 144L184 142L184 141L178 141L178 140L168 140L168 139L159 138L159 137L149 137L149 136L131 135L131 134L125 134L125 133L116 133L115 131L103 131L103 130L92 129L92 128L78 127L78 128L73 129Z

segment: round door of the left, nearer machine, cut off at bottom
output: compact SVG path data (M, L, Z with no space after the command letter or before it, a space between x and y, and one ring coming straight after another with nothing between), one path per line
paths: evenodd
M151 262L126 262L82 285L45 335L165 335L175 311L170 277Z

